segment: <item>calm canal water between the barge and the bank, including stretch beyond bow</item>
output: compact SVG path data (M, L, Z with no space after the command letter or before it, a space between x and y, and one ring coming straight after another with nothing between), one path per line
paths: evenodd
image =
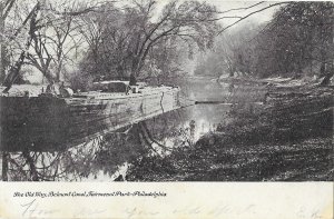
M180 82L180 87L183 96L191 100L229 102L238 90L203 78L188 79ZM219 123L229 122L229 104L189 106L100 136L67 151L11 152L2 157L1 177L13 181L119 180L131 160L144 156L164 157L174 148L191 147L202 136L215 131Z

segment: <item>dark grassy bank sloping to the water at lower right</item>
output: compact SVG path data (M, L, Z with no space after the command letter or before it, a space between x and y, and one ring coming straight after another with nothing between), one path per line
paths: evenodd
M268 86L264 103L247 93L229 111L229 123L193 147L132 162L135 181L332 180L333 88ZM250 107L249 107L250 104Z

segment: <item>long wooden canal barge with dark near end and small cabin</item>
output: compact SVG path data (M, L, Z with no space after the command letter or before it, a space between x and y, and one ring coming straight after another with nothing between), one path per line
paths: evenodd
M0 149L62 150L180 107L177 87L96 87L71 97L0 97Z

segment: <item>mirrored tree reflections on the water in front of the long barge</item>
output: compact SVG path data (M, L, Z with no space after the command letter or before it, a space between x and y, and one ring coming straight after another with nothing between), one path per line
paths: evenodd
M62 151L2 152L2 180L125 180L132 160L164 157L195 142L196 122L185 110L141 121Z

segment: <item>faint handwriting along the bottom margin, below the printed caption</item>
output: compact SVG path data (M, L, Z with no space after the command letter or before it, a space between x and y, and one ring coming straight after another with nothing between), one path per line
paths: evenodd
M28 202L21 203L21 216L22 218L46 218L51 216L61 216L65 209L61 208L48 208L42 207L37 199L32 199ZM264 210L264 209L263 209ZM97 217L110 217L110 213L118 215L121 218L135 219L135 218L161 218L167 215L174 216L190 216L196 218L196 216L206 216L212 218L226 217L226 216L256 216L258 208L255 205L248 205L245 207L236 207L230 205L217 205L212 208L204 208L202 206L187 206L181 208L167 208L159 211L155 208L139 208L139 207L125 207L120 209L107 209L102 207L80 207L71 209L68 207L66 212L71 216L71 218L97 218ZM322 219L318 210L305 210L303 207L296 211L294 218L297 219Z

